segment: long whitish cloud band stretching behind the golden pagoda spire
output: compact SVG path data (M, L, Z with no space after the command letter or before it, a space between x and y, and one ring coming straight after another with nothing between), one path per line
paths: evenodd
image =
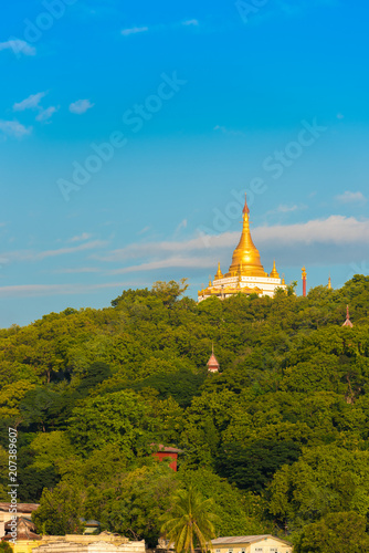
M277 259L294 264L309 255L316 261L327 260L327 250L333 262L348 259L347 253L362 249L369 241L369 219L331 216L296 225L275 225L256 227L252 231L256 247L264 254L268 251ZM93 254L101 262L124 267L114 268L107 274L124 274L166 268L215 270L219 260L230 263L232 251L240 240L240 231L223 232L214 236L199 236L190 240L133 243L105 255ZM308 247L312 247L308 249ZM266 253L267 254L267 253Z

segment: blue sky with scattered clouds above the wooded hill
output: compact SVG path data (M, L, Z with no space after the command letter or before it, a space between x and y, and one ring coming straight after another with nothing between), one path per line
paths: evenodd
M0 21L0 326L225 271L369 272L367 2L20 0Z

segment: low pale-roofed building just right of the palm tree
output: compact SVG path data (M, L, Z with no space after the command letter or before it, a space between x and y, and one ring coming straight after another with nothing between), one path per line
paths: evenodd
M213 553L292 553L292 543L264 535L233 535L211 540Z

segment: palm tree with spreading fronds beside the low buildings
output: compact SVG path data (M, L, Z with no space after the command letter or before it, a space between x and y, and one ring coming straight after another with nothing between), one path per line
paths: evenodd
M213 507L213 499L203 499L192 487L176 493L172 509L164 513L160 521L162 534L175 543L177 553L193 553L196 545L202 552L209 550L210 540L215 535L213 523L219 520L211 512Z

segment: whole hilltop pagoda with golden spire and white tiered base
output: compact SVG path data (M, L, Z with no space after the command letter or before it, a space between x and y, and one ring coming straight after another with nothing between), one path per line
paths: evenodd
M198 301L217 296L223 300L233 294L257 294L273 298L277 288L286 289L284 279L273 263L271 273L266 273L262 265L260 253L252 241L250 232L250 209L247 201L243 208L243 228L239 246L233 252L232 263L228 273L223 274L218 263L214 280L209 282L207 289L198 292Z

